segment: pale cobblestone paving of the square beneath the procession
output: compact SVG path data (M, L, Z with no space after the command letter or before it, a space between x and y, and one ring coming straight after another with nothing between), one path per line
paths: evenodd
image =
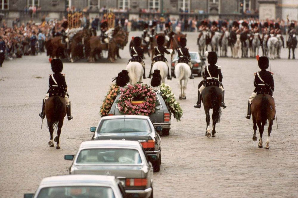
M140 34L131 32L129 39ZM187 33L190 51L198 50L197 37L198 33ZM35 192L42 178L68 174L71 161L64 160L64 155L75 154L82 141L91 139L89 127L100 120L100 106L112 78L125 69L130 57L128 45L120 50L120 56L115 63L106 59L64 63L74 119L64 120L60 150L48 146L46 120L40 129L38 116L48 90L48 74L52 73L48 57L44 53L4 61L0 68L1 198L23 197ZM151 62L145 57L148 75ZM258 148L258 141L252 141L253 123L245 119L254 72L260 70L257 60L219 57L227 108L216 125L216 137L205 136L204 108L193 107L202 80L195 77L188 82L187 99L179 101L181 122L172 119L170 135L162 137L162 165L160 172L154 173L154 197L298 197L298 61L287 59L287 49L282 49L281 57L269 60L268 68L274 73L279 127L277 130L274 121L270 150ZM170 56L166 58L170 62ZM166 83L179 100L177 79Z

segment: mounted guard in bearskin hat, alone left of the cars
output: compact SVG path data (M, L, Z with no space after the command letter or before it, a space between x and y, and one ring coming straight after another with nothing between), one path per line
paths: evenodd
M52 96L61 96L64 98L66 106L67 106L67 119L71 120L72 115L71 115L71 108L70 108L70 101L68 98L68 93L67 93L67 84L65 81L65 74L62 74L63 70L63 63L61 59L49 59L51 62L51 67L52 71L54 72L53 74L49 75L49 90L46 93L46 97L43 99L42 103L42 110L39 116L44 119L45 112L44 112L44 104L46 102L46 99Z

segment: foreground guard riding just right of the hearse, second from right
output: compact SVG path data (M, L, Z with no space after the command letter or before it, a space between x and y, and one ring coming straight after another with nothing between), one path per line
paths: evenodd
M222 101L221 101L221 107L224 109L226 108L226 105L224 104L224 87L222 85L222 79L223 75L221 74L221 67L215 65L217 63L217 54L215 52L205 52L208 63L210 65L204 66L204 80L201 81L198 85L198 101L194 105L195 108L201 108L201 94L205 87L208 86L218 86L222 91Z

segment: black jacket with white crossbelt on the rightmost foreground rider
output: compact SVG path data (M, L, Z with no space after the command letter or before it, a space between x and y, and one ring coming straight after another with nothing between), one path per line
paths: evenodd
M254 73L254 87L255 93L265 93L272 96L274 91L273 73L266 70Z

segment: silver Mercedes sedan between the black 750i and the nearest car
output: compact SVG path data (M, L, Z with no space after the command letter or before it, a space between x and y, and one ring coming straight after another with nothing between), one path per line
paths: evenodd
M129 197L153 197L153 167L137 141L85 141L64 159L73 160L69 174L114 175Z

